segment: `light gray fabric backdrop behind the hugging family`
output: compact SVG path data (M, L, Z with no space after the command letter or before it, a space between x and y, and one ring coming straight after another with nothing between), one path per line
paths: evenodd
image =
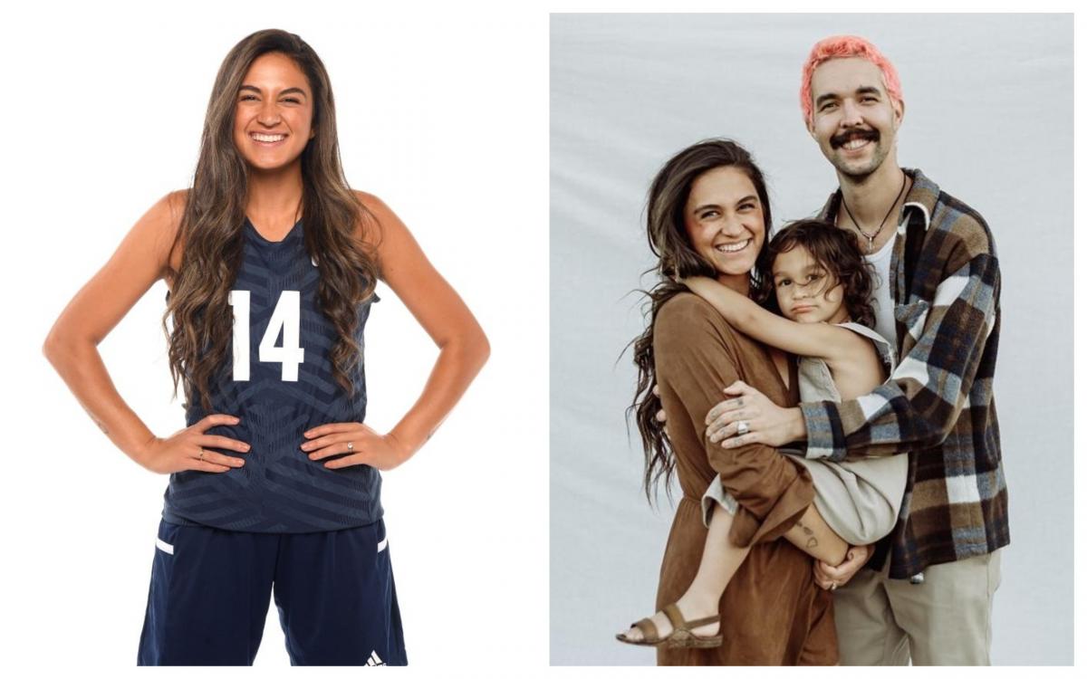
M1071 664L1072 15L553 15L551 18L551 663L651 664L613 641L652 613L673 510L640 492L624 408L628 294L652 280L642 225L664 161L705 137L754 153L774 222L836 187L798 104L811 46L875 42L902 80L899 162L996 235L1003 325L996 399L1012 543L996 664ZM616 363L617 361L617 363Z

